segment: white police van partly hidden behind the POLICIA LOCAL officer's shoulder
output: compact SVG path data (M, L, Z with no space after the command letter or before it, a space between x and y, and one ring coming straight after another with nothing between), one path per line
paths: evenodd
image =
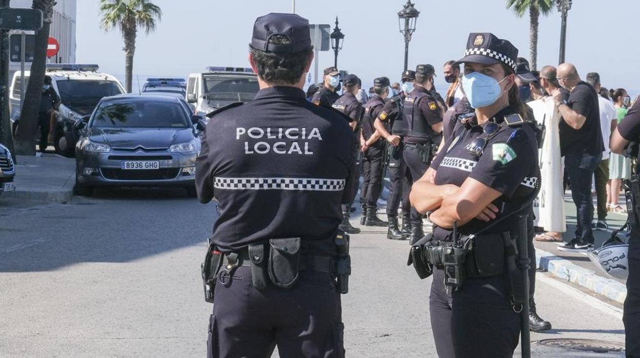
M259 89L252 69L207 67L207 72L189 74L187 102L195 104L195 114L204 116L233 102L251 101Z

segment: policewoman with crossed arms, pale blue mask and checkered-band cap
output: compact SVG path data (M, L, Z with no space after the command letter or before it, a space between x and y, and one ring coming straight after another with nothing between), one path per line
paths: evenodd
M504 233L513 238L517 228L515 220L500 218L529 206L538 181L536 138L522 126L525 111L514 85L517 56L507 40L469 35L459 63L465 65L463 90L475 115L456 124L410 196L416 209L430 213L435 240L452 240L454 222L458 233L476 236L466 257L474 257L479 271L494 252L506 252ZM444 270L434 267L429 304L440 357L513 355L520 316L504 262L495 269L474 274L467 265L467 279L451 290L443 284Z

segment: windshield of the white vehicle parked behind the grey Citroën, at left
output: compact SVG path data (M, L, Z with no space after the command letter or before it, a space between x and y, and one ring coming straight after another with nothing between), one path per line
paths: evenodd
M104 79L58 79L56 80L60 100L65 106L95 107L102 97L122 94L115 81Z

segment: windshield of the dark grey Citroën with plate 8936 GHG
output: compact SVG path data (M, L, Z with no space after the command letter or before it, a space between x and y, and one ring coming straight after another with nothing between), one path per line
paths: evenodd
M108 128L186 128L188 118L178 102L108 101L100 104L91 126Z

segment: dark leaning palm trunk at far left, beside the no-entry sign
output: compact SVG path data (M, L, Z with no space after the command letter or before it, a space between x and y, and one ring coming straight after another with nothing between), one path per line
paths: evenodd
M53 15L54 0L33 0L31 6L42 10L42 28L36 31L33 62L29 71L29 83L20 112L20 124L15 133L15 154L33 156L36 152L38 108L42 98L42 85L47 70L47 41Z

